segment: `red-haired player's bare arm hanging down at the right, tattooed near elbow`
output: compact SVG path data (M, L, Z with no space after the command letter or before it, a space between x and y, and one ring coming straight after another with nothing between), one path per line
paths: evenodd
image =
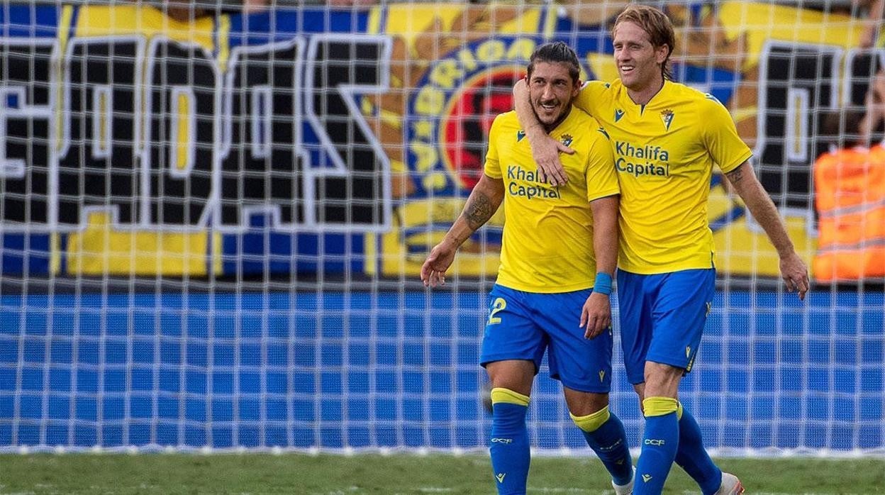
M805 298L810 282L808 267L796 252L793 242L789 239L787 228L781 220L781 214L774 206L772 198L756 178L750 161L744 161L725 174L735 192L743 199L753 218L766 231L768 239L774 245L781 259L781 277L790 292L796 290L799 298Z

